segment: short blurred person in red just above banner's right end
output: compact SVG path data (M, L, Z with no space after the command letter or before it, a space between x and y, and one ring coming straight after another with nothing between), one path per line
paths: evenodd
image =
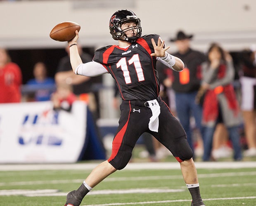
M73 94L72 86L66 83L57 84L55 93L51 97L54 110L65 110L70 112L72 104L77 100Z

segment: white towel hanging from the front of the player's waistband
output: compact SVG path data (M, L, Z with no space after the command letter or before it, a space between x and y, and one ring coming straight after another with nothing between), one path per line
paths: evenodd
M159 126L159 119L158 116L160 115L160 106L156 99L147 101L149 103L149 108L152 111L152 117L149 119L149 129L151 131L158 132L158 126Z

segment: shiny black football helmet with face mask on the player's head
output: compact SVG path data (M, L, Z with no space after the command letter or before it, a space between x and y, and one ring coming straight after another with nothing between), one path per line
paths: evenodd
M127 28L125 30L121 29L121 25L125 22L133 21L136 26ZM136 16L134 12L129 9L121 9L115 12L109 21L109 30L114 40L123 40L127 42L135 42L137 38L141 37L142 28L140 26L140 19ZM128 30L136 30L133 37L128 37L125 32Z

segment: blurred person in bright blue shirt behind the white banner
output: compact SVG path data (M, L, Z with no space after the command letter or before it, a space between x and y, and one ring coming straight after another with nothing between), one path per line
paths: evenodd
M34 65L33 75L35 78L28 80L26 84L34 91L32 101L49 101L55 89L55 82L52 77L47 77L47 68L43 62Z

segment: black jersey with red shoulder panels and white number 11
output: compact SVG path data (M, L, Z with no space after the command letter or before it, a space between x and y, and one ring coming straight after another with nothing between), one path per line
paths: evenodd
M116 80L123 100L152 100L159 96L159 77L151 39L159 35L146 35L127 48L117 45L95 51L94 61L101 63Z

